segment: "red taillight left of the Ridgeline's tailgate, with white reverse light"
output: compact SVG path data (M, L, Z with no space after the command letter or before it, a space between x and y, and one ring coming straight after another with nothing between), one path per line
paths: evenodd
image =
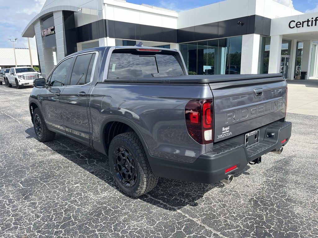
M213 142L213 101L190 100L185 106L185 122L189 135L200 144Z

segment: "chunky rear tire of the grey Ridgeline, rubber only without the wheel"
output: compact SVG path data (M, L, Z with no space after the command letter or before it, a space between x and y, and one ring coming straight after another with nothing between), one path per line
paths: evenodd
M120 146L128 149L137 167L136 183L131 187L127 187L121 182L117 176L118 170L116 171L114 166L116 148ZM130 197L139 197L156 187L158 177L152 173L145 149L135 132L127 132L114 137L109 145L108 161L114 180L124 194Z

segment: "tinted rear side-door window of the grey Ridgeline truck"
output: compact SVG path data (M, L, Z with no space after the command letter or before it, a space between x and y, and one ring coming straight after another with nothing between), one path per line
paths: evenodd
M76 57L70 85L83 85L86 81L87 69L92 58L92 54L79 55Z

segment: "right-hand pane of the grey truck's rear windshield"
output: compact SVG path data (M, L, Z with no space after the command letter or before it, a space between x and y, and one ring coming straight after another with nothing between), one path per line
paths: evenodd
M173 55L156 55L159 74L163 76L184 75L183 70Z

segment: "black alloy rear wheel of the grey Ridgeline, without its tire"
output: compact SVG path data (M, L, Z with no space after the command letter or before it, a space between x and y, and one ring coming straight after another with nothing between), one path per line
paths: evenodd
M133 187L137 181L138 170L134 156L129 149L123 145L117 146L113 162L116 175L122 185L127 188Z

